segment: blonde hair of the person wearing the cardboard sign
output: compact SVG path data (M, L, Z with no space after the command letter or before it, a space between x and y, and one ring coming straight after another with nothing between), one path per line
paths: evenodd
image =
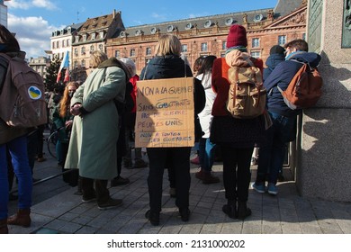
M176 55L180 56L182 44L180 40L172 34L164 34L159 37L156 46L156 56Z

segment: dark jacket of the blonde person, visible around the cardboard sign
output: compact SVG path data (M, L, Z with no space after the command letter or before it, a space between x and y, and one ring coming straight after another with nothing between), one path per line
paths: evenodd
M182 58L174 55L167 55L166 57L151 58L147 67L141 70L140 80L160 79L160 78L176 78L176 77L192 77L192 69L184 63ZM194 78L194 112L195 112L195 141L200 139L203 135L198 113L202 112L206 96L201 84L201 81Z

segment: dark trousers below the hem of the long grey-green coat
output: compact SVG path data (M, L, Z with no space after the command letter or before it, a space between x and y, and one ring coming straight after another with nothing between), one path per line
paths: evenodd
M97 203L107 202L110 192L107 189L107 180L81 177L83 198L91 198L96 193Z

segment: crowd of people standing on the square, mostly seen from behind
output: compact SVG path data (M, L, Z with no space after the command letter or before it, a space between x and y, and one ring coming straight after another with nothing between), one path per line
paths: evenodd
M0 26L0 53L23 57L18 41ZM249 59L263 73L267 90L266 112L273 125L266 129L265 116L238 119L228 112L229 68L240 67L240 59ZM168 172L171 196L175 197L181 220L191 217L189 193L190 162L199 166L195 177L203 184L220 183L211 171L217 153L222 161L222 181L229 218L245 220L251 215L247 206L251 181L251 161L257 162L257 178L252 188L257 193L278 193L276 186L282 175L286 143L296 135L296 116L278 90L285 89L294 74L307 62L316 67L320 55L308 52L305 40L292 40L284 47L275 45L264 62L247 51L247 33L241 25L232 25L227 37L225 57L199 57L189 66L182 55L180 40L172 34L161 35L155 57L142 69L140 76L130 58L108 58L102 51L91 53L91 73L81 85L70 81L63 93L53 94L49 101L49 120L58 130L56 153L64 181L78 186L82 202L96 202L101 210L119 207L121 199L111 197L111 186L128 184L121 176L121 167L148 166L149 210L145 217L159 225L162 210L163 175ZM0 66L0 79L6 71ZM191 160L192 147L147 148L148 162L141 148L131 153L130 141L135 138L137 81L176 77L194 79L194 135L196 160ZM41 140L30 140L41 139ZM32 142L42 145L42 127L16 129L0 120L0 233L8 233L7 225L31 225L32 168L35 158L44 161L42 147L30 148ZM39 149L30 153L28 149ZM41 150L40 150L41 149ZM254 149L258 154L254 154ZM134 159L132 158L134 157ZM9 167L12 168L9 168ZM11 172L13 171L13 173ZM11 175L12 174L12 175ZM14 175L18 181L18 211L8 217L7 202Z

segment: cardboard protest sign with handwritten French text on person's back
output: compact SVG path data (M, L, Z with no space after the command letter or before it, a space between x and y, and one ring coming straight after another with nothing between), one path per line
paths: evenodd
M137 82L136 147L192 147L193 77Z

